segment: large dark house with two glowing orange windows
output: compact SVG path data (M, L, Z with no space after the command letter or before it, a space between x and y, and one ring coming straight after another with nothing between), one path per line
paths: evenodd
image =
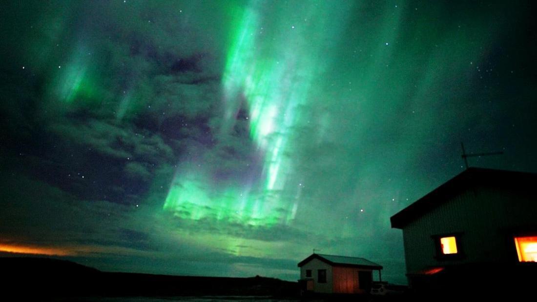
M391 217L409 285L522 290L537 276L537 174L468 168Z

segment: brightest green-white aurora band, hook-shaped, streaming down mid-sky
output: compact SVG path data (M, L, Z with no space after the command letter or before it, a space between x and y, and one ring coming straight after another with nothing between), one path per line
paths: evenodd
M245 107L255 145L252 152L262 158L260 177L248 185L222 188L201 176L202 171L178 173L164 209L180 218L272 226L291 223L299 209L302 183L290 177L297 175L289 157L294 129L309 123L300 108L307 106L318 89L315 82L328 65L328 60L319 57L330 49L331 38L342 27L336 24L326 30L326 23L333 16L341 17L343 23L346 8L314 2L275 5L281 7L252 1L230 8L234 19L222 77L225 108L220 136L230 134L238 112ZM303 12L302 17L296 17L297 10ZM278 16L269 17L269 12Z

